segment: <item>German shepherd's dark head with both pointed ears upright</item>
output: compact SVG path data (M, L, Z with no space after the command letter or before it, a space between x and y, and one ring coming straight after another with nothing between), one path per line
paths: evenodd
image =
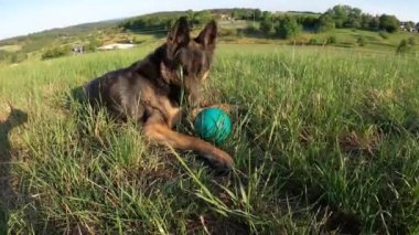
M208 75L216 40L215 21L206 24L196 38L191 38L186 18L180 18L169 32L162 76L170 84L184 86L192 103L197 100L200 84Z

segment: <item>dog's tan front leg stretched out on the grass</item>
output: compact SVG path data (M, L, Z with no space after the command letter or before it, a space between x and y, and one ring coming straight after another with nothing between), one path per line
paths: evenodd
M175 149L196 151L217 167L229 169L233 164L232 157L225 151L198 138L170 129L159 113L154 113L148 118L143 126L143 133L151 140L169 145Z

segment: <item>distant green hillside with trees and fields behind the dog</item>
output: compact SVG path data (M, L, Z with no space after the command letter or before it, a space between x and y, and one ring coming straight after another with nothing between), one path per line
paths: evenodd
M347 6L339 7L339 9L341 8L353 10ZM416 54L418 51L418 33L383 33L378 30L365 30L362 26L348 29L345 28L346 23L342 23L342 20L339 20L342 24L339 29L319 31L324 15L332 14L331 12L332 10L323 14L299 11L262 12L258 9L235 8L197 12L192 10L157 12L127 19L85 23L2 40L0 41L0 65L51 57L43 56L45 53L54 54L51 52L65 52L57 53L57 56L68 55L74 45L83 45L86 47L85 52L94 52L97 46L103 44L127 42L142 44L160 40L165 35L170 25L181 15L187 15L191 25L194 28L201 28L208 20L216 19L221 28L221 41L228 43L327 45L395 53L400 41L407 40L410 42L408 50L406 50L407 53ZM368 14L363 15L374 20ZM281 19L287 18L296 19L302 28L301 33L292 39L282 39L283 36L277 31L278 25L281 24ZM377 17L375 19L377 20ZM270 30L261 30L262 24L265 28L267 26L267 22Z

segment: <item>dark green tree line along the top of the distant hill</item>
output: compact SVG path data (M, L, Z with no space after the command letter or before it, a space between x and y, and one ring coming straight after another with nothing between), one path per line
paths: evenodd
M363 12L358 8L337 4L322 14L313 12L290 12L277 14L260 9L215 9L194 12L171 12L166 14L152 14L129 19L119 26L126 30L137 31L165 31L173 25L180 15L186 15L193 26L206 23L214 18L228 15L234 20L248 20L258 23L257 29L265 34L273 34L282 39L297 36L302 30L312 32L325 32L333 29L362 29L369 31L397 32L400 21L395 15L373 15ZM250 26L253 28L253 25ZM419 23L406 22L407 30L419 28Z

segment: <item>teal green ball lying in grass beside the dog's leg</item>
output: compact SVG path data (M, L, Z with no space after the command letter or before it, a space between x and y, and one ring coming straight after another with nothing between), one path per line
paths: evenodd
M204 140L223 143L232 132L228 115L219 108L205 108L197 114L195 131Z

